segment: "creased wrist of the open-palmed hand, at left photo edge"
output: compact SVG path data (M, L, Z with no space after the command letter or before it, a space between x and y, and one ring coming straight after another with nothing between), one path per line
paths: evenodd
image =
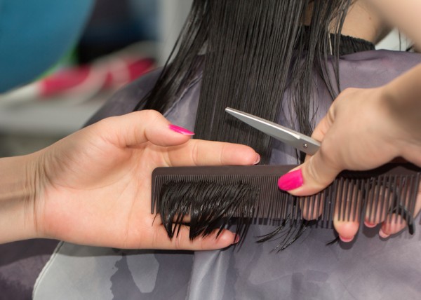
M0 158L0 243L36 238L36 154Z

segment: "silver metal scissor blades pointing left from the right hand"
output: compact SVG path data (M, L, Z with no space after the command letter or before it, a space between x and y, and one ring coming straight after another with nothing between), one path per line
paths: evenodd
M320 142L316 141L316 139L312 139L311 137L303 135L295 130L229 107L227 107L225 111L253 128L260 130L261 132L264 132L281 142L293 146L305 154L313 155L320 148Z

